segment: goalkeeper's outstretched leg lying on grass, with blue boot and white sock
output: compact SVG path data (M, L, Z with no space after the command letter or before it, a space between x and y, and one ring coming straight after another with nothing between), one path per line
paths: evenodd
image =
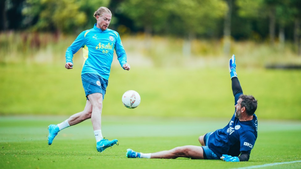
M178 157L186 157L192 159L204 159L203 148L200 146L182 146L175 147L167 151L159 151L156 153L137 153L131 149L127 149L128 158L151 158L151 159L176 159Z

